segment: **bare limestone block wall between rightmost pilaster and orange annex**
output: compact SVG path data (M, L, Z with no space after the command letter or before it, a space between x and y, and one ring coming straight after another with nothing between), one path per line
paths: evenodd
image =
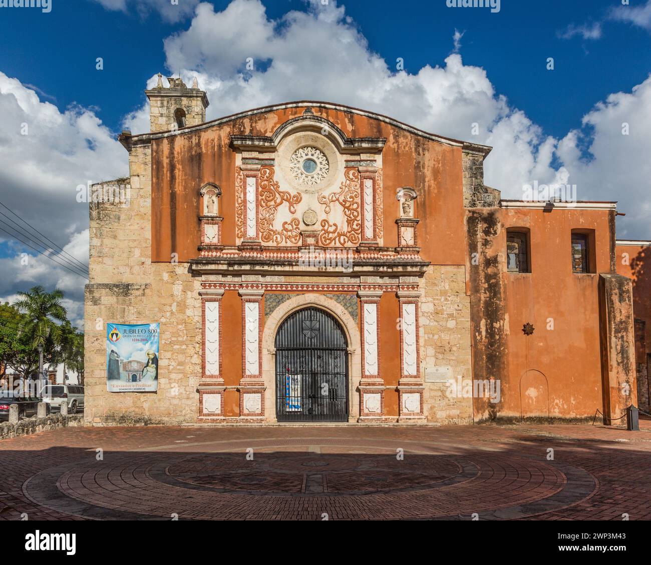
M450 391L449 384L449 379L458 383L461 378L462 384L472 379L465 266L430 266L422 279L421 292L421 361L427 419L441 424L471 424L473 398L463 396L463 387ZM434 375L437 382L428 382Z

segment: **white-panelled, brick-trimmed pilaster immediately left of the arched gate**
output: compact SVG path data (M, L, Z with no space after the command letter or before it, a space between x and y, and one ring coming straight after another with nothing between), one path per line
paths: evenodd
M264 290L240 289L242 297L242 379L240 392L240 421L264 421L264 379L262 378L262 296ZM253 342L252 337L257 341ZM255 350L251 348L255 347ZM252 359L257 353L257 363ZM255 366L252 366L255 365Z

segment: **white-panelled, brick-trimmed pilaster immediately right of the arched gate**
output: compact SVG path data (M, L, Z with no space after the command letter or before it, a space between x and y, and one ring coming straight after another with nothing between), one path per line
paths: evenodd
M359 422L382 421L385 419L384 381L382 380L380 349L380 291L360 291L362 378L359 381ZM374 308L374 316L367 319L367 305ZM375 368L367 366L367 339L374 339L376 348Z

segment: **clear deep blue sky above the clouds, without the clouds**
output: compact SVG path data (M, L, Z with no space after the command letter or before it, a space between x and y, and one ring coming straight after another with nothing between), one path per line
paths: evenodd
M155 10L143 15L136 2L130 12L122 12L106 10L96 0L52 1L49 14L18 8L0 12L0 70L38 87L48 95L44 100L61 110L72 103L97 107L98 117L120 131L124 115L144 101L146 77L165 69L163 39L186 29L190 18L169 22ZM631 0L631 7L644 3ZM217 11L229 2L212 4ZM502 0L497 14L448 8L445 0L354 0L344 6L369 48L387 62L402 57L411 73L426 64L442 64L452 50L454 29L465 32L464 63L486 69L498 92L547 133L561 136L580 126L594 103L641 83L651 71L648 31L606 20L620 4ZM264 5L273 20L305 9L301 0L267 0ZM569 25L600 21L601 40L559 37ZM102 72L95 69L96 57L104 58ZM554 72L546 70L547 57L555 58Z

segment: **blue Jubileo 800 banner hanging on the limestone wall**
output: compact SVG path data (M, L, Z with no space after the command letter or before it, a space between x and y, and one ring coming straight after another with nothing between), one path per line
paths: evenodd
M106 390L150 393L158 390L159 324L107 324Z

